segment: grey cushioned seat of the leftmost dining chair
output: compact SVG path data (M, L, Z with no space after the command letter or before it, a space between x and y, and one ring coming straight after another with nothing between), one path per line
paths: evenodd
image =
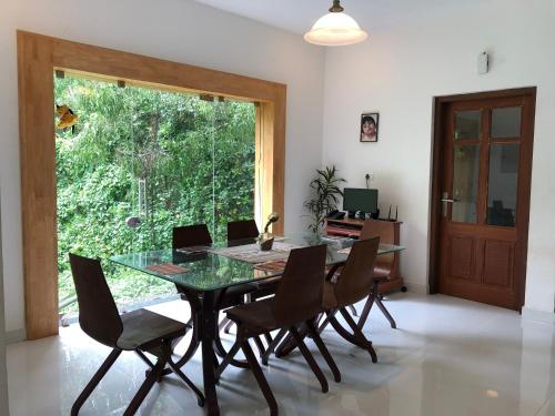
M121 315L123 333L118 347L124 351L148 349L160 339L178 338L185 335L186 325L148 310L138 310Z

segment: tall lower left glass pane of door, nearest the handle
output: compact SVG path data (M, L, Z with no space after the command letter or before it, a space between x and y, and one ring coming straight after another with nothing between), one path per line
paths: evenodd
M453 222L475 223L478 195L480 145L456 145L453 159Z

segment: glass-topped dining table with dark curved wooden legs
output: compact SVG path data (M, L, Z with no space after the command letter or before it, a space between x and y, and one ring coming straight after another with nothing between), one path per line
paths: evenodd
M345 248L353 245L351 239L330 239L316 234L287 234L283 243L292 246L327 245L327 265L337 265L346 261ZM223 256L219 248L228 245L240 246L252 244L252 240L228 243L216 243L211 247L195 248L194 253L175 250L160 250L153 252L131 253L110 257L110 261L134 268L137 271L163 278L180 286L191 304L193 315L193 337L191 345L178 362L183 366L202 345L202 374L204 395L209 415L219 415L218 396L215 392L214 365L215 353L221 353L221 343L218 331L219 298L224 291L233 286L252 284L255 282L275 278L283 271L261 270L255 263ZM397 245L381 244L379 254L394 253L404 250ZM181 273L163 274L160 268L152 266L183 267Z

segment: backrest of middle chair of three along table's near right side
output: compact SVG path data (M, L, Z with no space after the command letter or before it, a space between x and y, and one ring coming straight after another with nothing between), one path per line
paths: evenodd
M352 305L370 294L380 237L359 240L349 253L334 285L339 307Z

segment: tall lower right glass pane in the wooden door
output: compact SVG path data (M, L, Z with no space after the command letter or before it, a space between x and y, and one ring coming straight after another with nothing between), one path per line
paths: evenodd
M518 143L492 144L487 194L487 224L515 226L518 183Z

